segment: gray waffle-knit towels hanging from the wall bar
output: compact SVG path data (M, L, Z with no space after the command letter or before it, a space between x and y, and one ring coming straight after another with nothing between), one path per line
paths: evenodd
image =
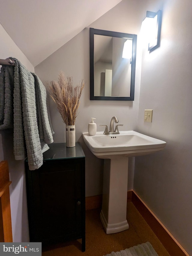
M13 126L15 159L24 159L27 152L29 170L35 170L43 164L47 143L53 142L48 97L38 76L10 59L15 67L2 66L0 73L0 129Z

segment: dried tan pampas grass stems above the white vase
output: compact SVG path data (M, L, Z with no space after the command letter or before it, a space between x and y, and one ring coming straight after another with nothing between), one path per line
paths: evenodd
M51 98L57 106L58 112L66 125L74 125L78 115L80 97L85 86L82 80L73 87L72 77L65 77L63 71L59 72L58 81L46 82Z

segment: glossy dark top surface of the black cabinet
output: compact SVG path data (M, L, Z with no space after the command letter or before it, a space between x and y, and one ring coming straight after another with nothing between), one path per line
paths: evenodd
M85 157L79 142L76 142L75 147L72 148L67 148L66 143L52 143L48 146L49 149L43 153L44 160Z

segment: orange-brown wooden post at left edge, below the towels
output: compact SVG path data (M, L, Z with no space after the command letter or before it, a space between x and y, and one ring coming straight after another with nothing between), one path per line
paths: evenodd
M0 198L3 220L4 242L13 242L9 194L9 169L7 161L0 162Z

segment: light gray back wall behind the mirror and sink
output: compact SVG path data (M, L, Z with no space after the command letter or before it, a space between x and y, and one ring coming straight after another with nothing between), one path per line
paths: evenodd
M138 1L140 2L140 1ZM135 15L137 13L137 15ZM104 30L112 30L124 33L138 34L142 22L142 13L138 10L135 1L122 1L116 7L108 11L90 27ZM123 130L134 130L137 124L139 89L140 89L140 57L138 50L137 77L134 101L90 101L89 100L89 27L59 48L46 60L35 67L35 73L42 81L57 80L58 72L63 70L66 75L73 76L74 84L83 78L86 81L85 89L81 97L79 115L76 118L76 141L82 143L86 155L86 196L102 194L103 160L96 158L82 141L82 133L87 132L91 117L95 117L97 130L103 131L100 124L110 124L114 115L119 122L124 124ZM54 142L65 141L65 125L62 122L55 103L50 101L50 113L55 134ZM128 189L133 189L134 159L130 158Z

